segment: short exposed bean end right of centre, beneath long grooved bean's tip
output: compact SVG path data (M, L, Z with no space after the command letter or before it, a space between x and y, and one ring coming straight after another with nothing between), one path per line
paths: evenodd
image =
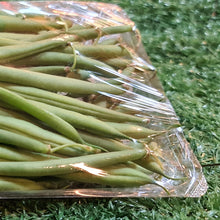
M164 131L155 131L149 128L145 128L143 126L127 123L108 122L108 124L120 131L121 133L136 139L146 138L148 136L156 136L164 133Z

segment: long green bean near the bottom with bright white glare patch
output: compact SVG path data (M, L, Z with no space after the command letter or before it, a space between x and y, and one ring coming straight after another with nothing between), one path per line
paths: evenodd
M145 153L145 150L125 150L48 161L0 162L0 175L31 177L68 174L79 170L86 171L89 167L101 168L137 160L144 157Z

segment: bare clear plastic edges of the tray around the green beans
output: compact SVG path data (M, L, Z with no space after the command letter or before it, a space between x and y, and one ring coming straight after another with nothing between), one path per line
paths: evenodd
M89 24L96 27L129 24L134 26L126 13L117 5L97 2L0 2L0 10L6 13L38 13L44 15L59 15L73 20L78 24ZM122 108L138 110L139 114L150 119L148 126L154 129L166 129L178 123L169 100L156 77L156 70L151 65L140 42L137 31L132 34L122 34L126 45L135 51L136 64L149 68L147 75L134 76L130 81L137 89L141 87L143 94L133 94L123 97ZM137 37L138 36L138 37ZM150 51L148 51L150 54ZM140 82L140 84L138 84ZM145 86L146 87L145 87ZM149 86L149 87L148 87ZM147 91L150 89L149 91ZM155 91L156 89L156 95ZM158 95L157 91L159 91ZM112 96L113 97L113 96ZM145 97L145 99L144 99ZM117 97L114 97L117 98ZM159 100L161 99L161 100ZM141 113L140 113L141 112ZM138 188L71 188L60 190L40 190L28 192L0 192L1 199L11 198L65 198L65 197L200 197L207 190L202 168L183 136L181 127L173 128L154 140L161 148L161 157L165 158L164 169L170 176L187 176L185 181L175 181L162 178L161 182L169 191L166 194L161 188L144 185Z

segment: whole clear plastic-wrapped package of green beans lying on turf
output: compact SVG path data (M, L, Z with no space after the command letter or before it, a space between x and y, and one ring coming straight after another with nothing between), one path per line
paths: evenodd
M18 25L10 30L7 19L1 21L5 26L0 25L2 48L22 44L25 50L20 53L18 49L13 56L0 55L0 85L3 88L0 97L4 103L0 107L0 128L5 135L0 137L0 147L5 155L9 151L19 155L17 159L1 158L1 199L200 197L206 192L202 168L164 95L156 70L141 44L141 36L120 7L97 2L0 2L0 16L3 16L0 20L4 16L16 16L21 22L29 20L41 24L35 28L32 24L30 30L27 24L22 30L22 33L26 32L23 38L18 34L6 35L15 29L21 31ZM40 46L36 44L39 40L43 40ZM30 41L33 43L29 50ZM61 53L65 55L63 59ZM47 55L53 58L48 59ZM25 75L29 73L27 70L41 73L34 74L32 79ZM14 76L10 74L16 74L16 71L20 71L17 74L20 78L14 82ZM47 78L41 78L42 72ZM53 74L58 77L56 83ZM60 77L66 81L62 82ZM26 78L29 78L28 82ZM80 84L72 78L80 80ZM94 85L99 85L98 89ZM38 89L35 91L30 87ZM49 91L47 98L41 95L43 90ZM55 91L59 98L49 96ZM23 98L17 98L17 104L13 104L11 93ZM4 98L6 95L11 99ZM73 106L68 104L70 99L80 101ZM90 103L90 109L85 105L79 108L82 102ZM33 105L39 109L33 110ZM9 110L5 111L8 106ZM96 113L91 110L94 106ZM11 107L19 111L14 113ZM60 113L57 107L68 110ZM39 116L42 108L73 125L76 131L72 127L69 134L68 127L66 133L67 125L63 121L54 124L47 113ZM111 111L104 114L103 109L107 108ZM29 116L20 114L20 110ZM77 113L70 113L72 110ZM113 111L114 115L111 115ZM133 118L130 121L123 119L125 115ZM19 119L12 120L9 118L12 116ZM11 125L4 124L7 117ZM25 120L24 124L19 120ZM139 127L130 128L131 125ZM19 142L22 144L13 142L20 140L19 135L23 135L23 142ZM39 148L27 150L34 144L41 144L41 151ZM15 152L20 145L27 146ZM24 162L14 162L20 157ZM164 176L144 169L141 160L163 167ZM148 177L153 178L155 184L146 184Z

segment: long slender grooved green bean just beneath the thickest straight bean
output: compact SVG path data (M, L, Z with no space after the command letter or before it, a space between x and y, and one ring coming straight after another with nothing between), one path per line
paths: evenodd
M10 85L10 84L0 84L0 85L13 92L18 92L20 93L20 95L26 94L26 95L29 95L29 98L30 96L37 97L37 98L40 98L37 101L43 100L42 102L53 104L55 106L62 107L62 108L64 108L65 106L67 110L77 111L82 114L88 114L92 116L97 115L97 117L100 116L100 118L110 119L112 121L121 121L121 122L131 121L131 122L139 122L139 123L144 122L144 118L136 117L136 116L129 115L129 114L124 114L121 112L116 112L111 109L106 109L104 107L96 106L91 103L85 103L78 99L55 94L55 93L44 91L41 89L32 88L32 87L15 86L15 85ZM51 103L50 101L54 101L54 102ZM61 106L59 105L59 103L61 104ZM62 105L62 104L66 104L66 105Z

